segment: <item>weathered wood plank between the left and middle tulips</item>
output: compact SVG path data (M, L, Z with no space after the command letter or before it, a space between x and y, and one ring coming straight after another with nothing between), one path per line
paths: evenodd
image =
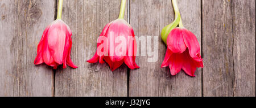
M73 33L71 59L79 68L56 71L55 96L127 96L125 65L112 72L108 64L86 62L96 53L102 29L118 18L120 5L119 0L64 1L63 20Z

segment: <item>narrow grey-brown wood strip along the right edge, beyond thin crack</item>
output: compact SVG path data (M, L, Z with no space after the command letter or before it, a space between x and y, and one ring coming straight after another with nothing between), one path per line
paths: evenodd
M234 96L255 96L255 1L232 3Z

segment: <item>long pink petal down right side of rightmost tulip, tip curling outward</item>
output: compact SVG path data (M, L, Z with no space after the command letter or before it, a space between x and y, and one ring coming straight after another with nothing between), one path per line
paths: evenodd
M184 29L183 31L184 42L189 49L190 56L196 61L203 61L203 59L196 58L197 54L200 54L200 45L199 45L199 42L197 41L196 36L191 31L188 31L185 28L183 29Z

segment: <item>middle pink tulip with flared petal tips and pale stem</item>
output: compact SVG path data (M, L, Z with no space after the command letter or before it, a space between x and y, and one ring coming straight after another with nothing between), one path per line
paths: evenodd
M137 45L133 28L124 19L126 0L122 0L119 18L107 24L98 38L96 54L87 62L108 63L112 71L123 63L130 69L139 68L135 63Z

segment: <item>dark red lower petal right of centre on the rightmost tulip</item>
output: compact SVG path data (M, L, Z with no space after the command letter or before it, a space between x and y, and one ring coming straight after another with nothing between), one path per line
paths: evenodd
M183 53L183 57L184 59L186 59L186 61L184 61L182 69L187 75L195 77L194 74L196 71L196 64L193 61L193 59L190 57L188 50L186 50Z

